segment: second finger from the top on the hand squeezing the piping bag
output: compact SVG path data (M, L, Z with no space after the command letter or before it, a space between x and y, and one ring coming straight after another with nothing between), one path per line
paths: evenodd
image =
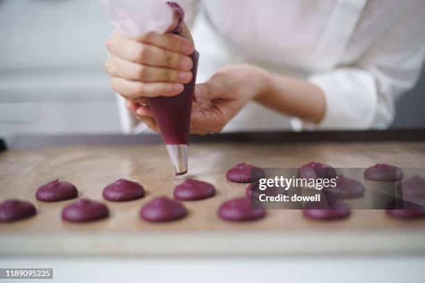
M143 65L178 69L181 71L190 71L193 65L192 59L187 55L137 42L128 37L123 37L119 33L115 33L113 37L110 37L106 46L110 53L124 60Z

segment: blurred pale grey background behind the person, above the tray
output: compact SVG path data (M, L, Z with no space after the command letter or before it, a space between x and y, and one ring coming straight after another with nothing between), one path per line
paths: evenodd
M121 132L96 0L0 0L0 135ZM392 128L425 127L425 74Z

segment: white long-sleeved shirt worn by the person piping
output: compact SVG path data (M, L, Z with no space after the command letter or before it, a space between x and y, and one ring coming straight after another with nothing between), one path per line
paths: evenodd
M228 64L306 78L322 88L322 121L308 124L249 103L224 131L385 128L425 53L423 0L181 0L200 53L197 83ZM195 17L196 16L196 17ZM119 103L126 132L138 122Z

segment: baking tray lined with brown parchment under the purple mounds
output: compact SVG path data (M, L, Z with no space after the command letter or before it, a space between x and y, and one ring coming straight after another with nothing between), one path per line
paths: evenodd
M269 210L252 223L217 217L219 204L244 196L246 184L228 182L225 172L239 162L260 167L298 167L311 160L335 167L386 162L400 167L425 164L424 131L244 133L192 137L189 173L172 175L158 135L22 136L0 154L0 198L35 203L38 216L0 225L0 255L293 255L420 254L425 221L399 221L380 210L354 210L344 221L322 223L299 210ZM385 141L383 141L383 139ZM138 210L153 196L172 196L185 178L217 187L217 196L184 202L189 215L172 223L147 223ZM35 190L60 178L81 196L104 201L110 218L83 225L64 223L61 209L72 202L42 203ZM136 180L147 197L128 203L102 199L117 178Z

